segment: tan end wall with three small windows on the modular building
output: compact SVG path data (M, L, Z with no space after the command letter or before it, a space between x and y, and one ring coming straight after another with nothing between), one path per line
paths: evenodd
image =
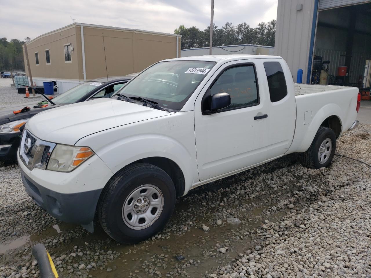
M71 43L72 63L65 62L64 44ZM46 64L45 49L50 49L50 64ZM32 77L79 79L78 53L81 46L77 44L75 27L50 34L27 44ZM39 52L39 65L36 65L35 52ZM25 65L26 66L26 65ZM27 66L26 66L27 67Z

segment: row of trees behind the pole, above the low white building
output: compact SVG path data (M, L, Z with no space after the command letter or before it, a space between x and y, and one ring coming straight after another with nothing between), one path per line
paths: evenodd
M209 47L210 26L200 30L195 26L186 28L180 25L174 30L174 34L182 36L181 49L195 47ZM234 44L258 44L275 46L276 20L260 22L257 27L252 28L246 22L238 25L227 22L221 28L214 24L213 46L226 46Z

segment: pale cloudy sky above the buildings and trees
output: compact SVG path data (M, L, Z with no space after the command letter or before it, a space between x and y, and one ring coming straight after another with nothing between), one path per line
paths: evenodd
M214 24L256 27L277 17L278 0L214 0ZM24 40L76 22L174 33L210 25L211 0L17 0L0 9L0 37Z

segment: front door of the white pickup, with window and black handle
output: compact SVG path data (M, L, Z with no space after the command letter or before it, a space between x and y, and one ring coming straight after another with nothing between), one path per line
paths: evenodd
M230 62L213 75L197 97L194 122L200 181L265 160L270 103L267 92L259 87L264 79L256 76L265 78L262 63L257 67L254 60ZM230 94L231 105L207 115L203 110L208 110L211 96L219 92Z

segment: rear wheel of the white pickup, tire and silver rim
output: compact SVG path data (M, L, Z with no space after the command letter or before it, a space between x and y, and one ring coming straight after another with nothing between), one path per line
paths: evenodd
M335 149L336 135L334 130L321 126L309 149L301 155L302 165L312 169L328 167L334 157Z

